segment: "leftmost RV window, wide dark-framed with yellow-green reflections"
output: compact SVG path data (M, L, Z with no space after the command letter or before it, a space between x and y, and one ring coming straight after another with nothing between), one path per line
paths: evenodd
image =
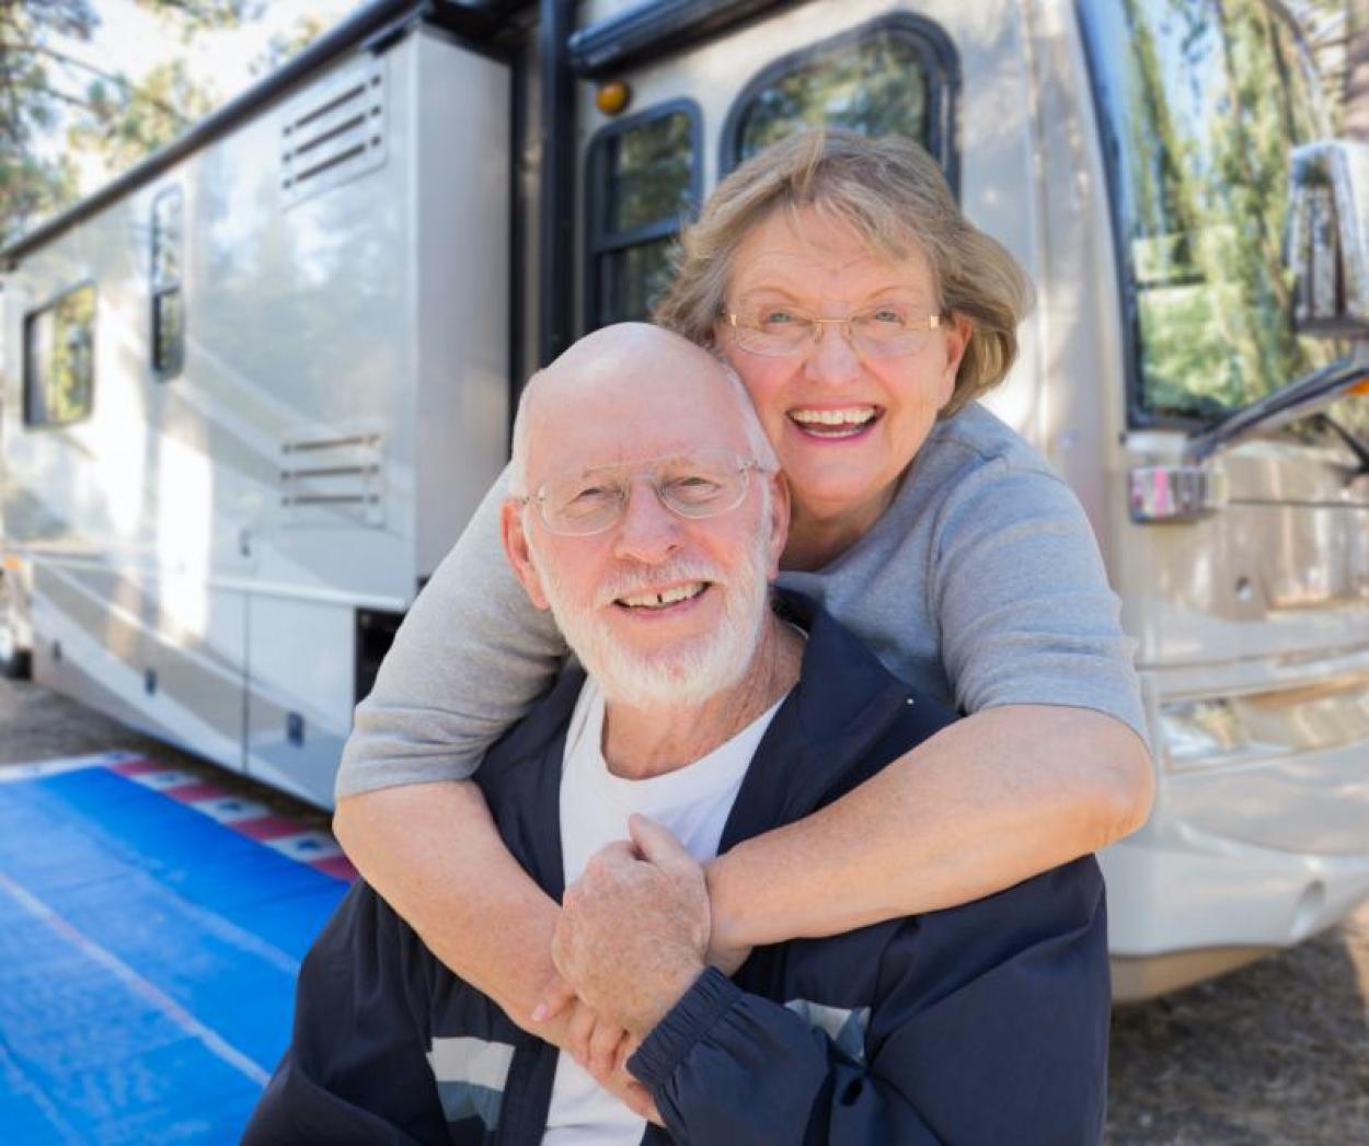
M23 323L25 425L67 425L94 395L94 286L68 290Z

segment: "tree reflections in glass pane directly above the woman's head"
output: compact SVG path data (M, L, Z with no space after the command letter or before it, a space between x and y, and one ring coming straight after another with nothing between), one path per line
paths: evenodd
M927 135L927 75L905 36L888 29L821 52L757 92L742 115L746 159L804 127L846 127L867 135Z

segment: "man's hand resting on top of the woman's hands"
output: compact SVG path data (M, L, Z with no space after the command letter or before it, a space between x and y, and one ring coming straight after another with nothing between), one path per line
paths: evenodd
M561 903L552 960L596 1015L643 1038L704 970L704 871L658 823L634 815Z

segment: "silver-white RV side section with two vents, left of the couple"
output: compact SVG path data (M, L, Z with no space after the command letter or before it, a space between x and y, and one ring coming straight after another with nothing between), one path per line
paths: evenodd
M509 82L353 52L7 275L41 681L331 803L359 654L505 457Z

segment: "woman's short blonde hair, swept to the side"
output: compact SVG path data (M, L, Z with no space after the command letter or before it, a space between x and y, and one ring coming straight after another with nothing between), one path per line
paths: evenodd
M1017 357L1017 324L1032 306L1031 280L1002 243L961 215L936 161L901 137L813 129L749 159L680 235L675 282L654 320L712 343L737 248L773 212L808 206L852 227L884 257L920 253L942 312L973 324L943 417L1002 382Z

